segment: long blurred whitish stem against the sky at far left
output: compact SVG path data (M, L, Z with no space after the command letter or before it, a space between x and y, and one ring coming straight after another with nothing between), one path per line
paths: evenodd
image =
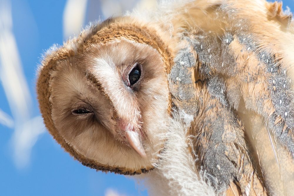
M29 163L31 148L38 136L44 132L44 125L41 117L31 118L32 98L22 69L12 24L11 2L1 0L0 80L13 115L14 133L11 142L14 160L16 166L25 167ZM6 119L3 122L12 126L11 120L7 121L9 118L3 114L6 117L2 118Z

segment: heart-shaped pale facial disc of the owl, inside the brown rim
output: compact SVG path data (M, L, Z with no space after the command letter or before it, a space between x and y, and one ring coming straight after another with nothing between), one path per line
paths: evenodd
M163 147L168 82L147 44L93 44L51 71L51 117L65 142L103 167L149 170Z

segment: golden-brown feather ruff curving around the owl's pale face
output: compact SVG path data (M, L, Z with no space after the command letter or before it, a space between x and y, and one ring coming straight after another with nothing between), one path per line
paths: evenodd
M66 143L64 138L59 134L51 117L51 87L49 81L51 80L51 72L59 66L61 61L64 61L70 57L85 51L91 44L96 43L108 43L117 39L128 39L137 43L147 44L160 54L164 62L166 73L170 73L173 59L169 48L163 43L163 41L155 33L151 33L146 29L146 26L133 25L131 23L121 23L114 19L108 19L101 24L92 25L88 29L84 30L77 38L67 41L63 47L58 48L51 53L47 53L42 61L42 65L39 70L39 77L37 81L37 95L39 100L39 107L44 119L46 128L53 138L67 151L80 161L83 165L102 171L110 171L114 173L124 175L134 175L148 172L153 167L141 168L138 170L128 169L122 167L112 167L110 165L103 165L97 163L94 160L86 158L84 155L78 153L74 148ZM168 113L171 110L171 95L169 95Z

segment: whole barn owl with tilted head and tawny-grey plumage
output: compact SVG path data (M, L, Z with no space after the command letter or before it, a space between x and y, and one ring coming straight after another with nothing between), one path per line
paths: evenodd
M40 110L83 165L167 195L291 195L293 40L278 2L162 1L49 49Z

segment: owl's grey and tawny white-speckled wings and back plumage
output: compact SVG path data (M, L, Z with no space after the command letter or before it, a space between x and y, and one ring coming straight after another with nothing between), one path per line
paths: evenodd
M199 164L218 190L234 184L245 195L286 195L294 185L294 60L287 55L294 25L281 4L249 7L262 10L253 16L246 2L217 5L207 12L223 19L220 26L183 33L186 47L170 74L172 101L195 116Z

